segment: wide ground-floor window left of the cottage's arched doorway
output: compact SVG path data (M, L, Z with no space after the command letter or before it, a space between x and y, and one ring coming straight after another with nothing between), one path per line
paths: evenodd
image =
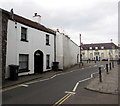
M19 72L28 71L28 54L19 54Z

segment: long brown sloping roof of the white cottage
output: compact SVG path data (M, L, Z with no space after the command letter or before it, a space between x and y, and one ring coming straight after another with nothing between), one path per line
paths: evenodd
M13 20L11 18L10 12L2 9L2 13L6 14L8 16L8 19ZM19 22L21 24L27 25L29 27L32 27L32 28L35 28L35 29L38 29L38 30L41 30L41 31L44 31L44 32L47 32L47 33L50 33L50 34L54 34L54 35L56 34L56 32L54 30L49 29L49 28L47 28L47 27L45 27L45 26L43 26L43 25L41 25L37 22L31 21L29 19L26 19L26 18L24 18L22 16L19 16L19 15L16 15L16 14L14 14L14 20L13 21Z

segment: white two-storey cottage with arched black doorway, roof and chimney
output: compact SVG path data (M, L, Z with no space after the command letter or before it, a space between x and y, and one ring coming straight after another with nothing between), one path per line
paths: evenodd
M10 76L9 65L19 65L20 75L42 73L52 68L55 32L34 21L4 11L8 16L5 77Z

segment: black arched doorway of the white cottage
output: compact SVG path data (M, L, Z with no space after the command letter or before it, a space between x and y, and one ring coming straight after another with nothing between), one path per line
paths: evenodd
M34 73L42 73L43 72L43 52L37 50L34 53Z

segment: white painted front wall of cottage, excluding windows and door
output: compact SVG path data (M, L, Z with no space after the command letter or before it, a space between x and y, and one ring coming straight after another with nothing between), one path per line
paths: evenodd
M21 27L27 28L27 40L23 42L21 40ZM46 45L46 34L50 35L50 46ZM41 50L43 52L43 71L46 69L46 55L50 54L50 67L54 61L54 35L25 26L17 23L15 28L15 22L8 21L7 31L7 57L6 57L6 78L9 77L8 65L19 65L19 54L29 54L29 70L30 72L19 73L20 75L34 73L34 52Z

